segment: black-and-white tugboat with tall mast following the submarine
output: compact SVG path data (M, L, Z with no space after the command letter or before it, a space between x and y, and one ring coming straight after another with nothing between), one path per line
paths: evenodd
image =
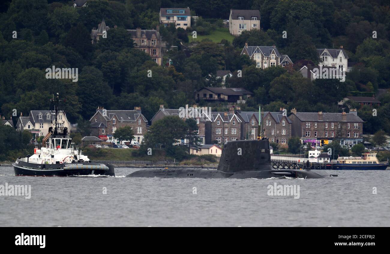
M52 99L55 103L55 121L42 140L42 147L34 148L34 155L19 157L12 166L16 176L115 176L114 166L92 162L78 148L74 149L72 139L64 122L58 122L59 95ZM53 128L54 127L54 128Z

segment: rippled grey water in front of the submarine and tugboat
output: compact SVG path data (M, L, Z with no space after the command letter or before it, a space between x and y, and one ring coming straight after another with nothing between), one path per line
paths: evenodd
M0 185L31 185L30 199L0 196L0 226L390 226L390 170L306 180L120 177L136 170L16 177L0 167ZM268 196L275 182L300 185L300 198Z

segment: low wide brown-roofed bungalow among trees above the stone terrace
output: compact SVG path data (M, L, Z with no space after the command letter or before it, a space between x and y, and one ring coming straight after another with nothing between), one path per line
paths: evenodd
M252 92L244 88L234 87L203 87L195 92L195 99L204 99L206 101L227 101L237 102L245 101L252 96ZM245 102L244 102L245 103Z

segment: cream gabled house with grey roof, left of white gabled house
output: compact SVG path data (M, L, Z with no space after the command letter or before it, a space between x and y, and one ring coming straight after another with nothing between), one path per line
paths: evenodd
M252 60L256 62L257 68L266 69L271 66L286 66L292 65L293 61L287 55L279 53L275 45L269 46L248 46L245 43L245 47L241 51L241 55L248 55Z

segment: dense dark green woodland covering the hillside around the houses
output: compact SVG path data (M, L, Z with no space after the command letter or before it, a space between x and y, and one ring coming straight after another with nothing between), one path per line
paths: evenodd
M66 99L62 109L67 117L80 126L86 125L97 106L141 106L150 120L160 104L165 108L193 104L196 89L220 86L214 75L223 69L235 74L227 86L254 92L254 97L241 105L243 110L255 111L262 105L269 111L284 107L338 112L337 102L347 95L371 95L390 88L390 4L385 0L90 0L88 7L82 8L72 4L51 0L0 4L0 113L6 118L12 109L17 109L18 115L48 109L52 94L58 92ZM228 19L230 9L259 9L261 30L244 32L232 43L206 39L192 48L188 57L181 43L188 46L190 31L161 27L167 44L179 47L166 53L174 61L170 67L156 65L150 56L134 48L125 29L154 29L160 7L187 6L192 15L201 17L191 29L205 34L220 26L221 19ZM117 28L108 31L107 39L92 45L91 29L103 18L110 28ZM13 31L17 38L12 38ZM283 31L287 38L282 38ZM373 31L376 38L372 38ZM275 44L279 52L289 55L294 66L257 69L247 56L240 56L245 42L253 46ZM316 48L340 45L350 62L358 62L345 82L312 82L297 72L304 64L318 63ZM45 69L52 65L78 68L78 82L46 79ZM152 71L151 78L148 70ZM238 70L242 70L241 78L236 76ZM365 133L380 129L390 132L390 95L381 101L378 116L372 116L369 107L358 110L367 121ZM210 106L223 110L225 105ZM13 120L16 123L17 117Z

